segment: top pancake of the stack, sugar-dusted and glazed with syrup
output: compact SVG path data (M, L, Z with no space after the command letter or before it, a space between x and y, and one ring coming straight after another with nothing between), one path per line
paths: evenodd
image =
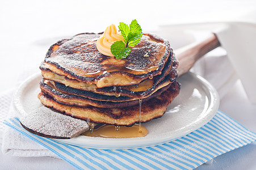
M53 44L44 66L58 75L97 87L139 84L161 74L167 58L173 57L170 42L144 34L125 59L104 56L96 48L100 34L82 33Z

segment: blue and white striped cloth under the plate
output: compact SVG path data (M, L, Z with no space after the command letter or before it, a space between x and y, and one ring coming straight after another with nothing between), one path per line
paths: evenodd
M56 142L29 133L18 118L4 124L48 148L77 169L194 169L256 140L256 134L218 111L202 128L163 145L129 149L96 150Z

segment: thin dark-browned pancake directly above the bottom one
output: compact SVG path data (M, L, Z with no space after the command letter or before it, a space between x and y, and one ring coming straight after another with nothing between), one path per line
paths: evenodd
M168 84L165 87L160 88L156 91L153 95L150 95L143 99L142 101L148 101L149 99L159 96L170 87L171 84ZM139 99L131 100L131 101L119 101L119 102L112 102L111 100L101 101L101 100L93 100L87 97L78 96L78 95L70 95L62 92L60 90L56 90L56 88L49 82L48 80L41 80L40 82L41 92L45 95L51 96L57 103L71 105L71 106L79 106L79 107L89 107L94 106L98 108L121 108L121 107L129 107L133 105L139 104ZM95 94L91 94L89 92L89 96L97 96ZM108 97L108 96L103 96ZM113 96L114 97L114 96ZM121 97L120 97L121 98ZM116 99L120 99L117 97Z

